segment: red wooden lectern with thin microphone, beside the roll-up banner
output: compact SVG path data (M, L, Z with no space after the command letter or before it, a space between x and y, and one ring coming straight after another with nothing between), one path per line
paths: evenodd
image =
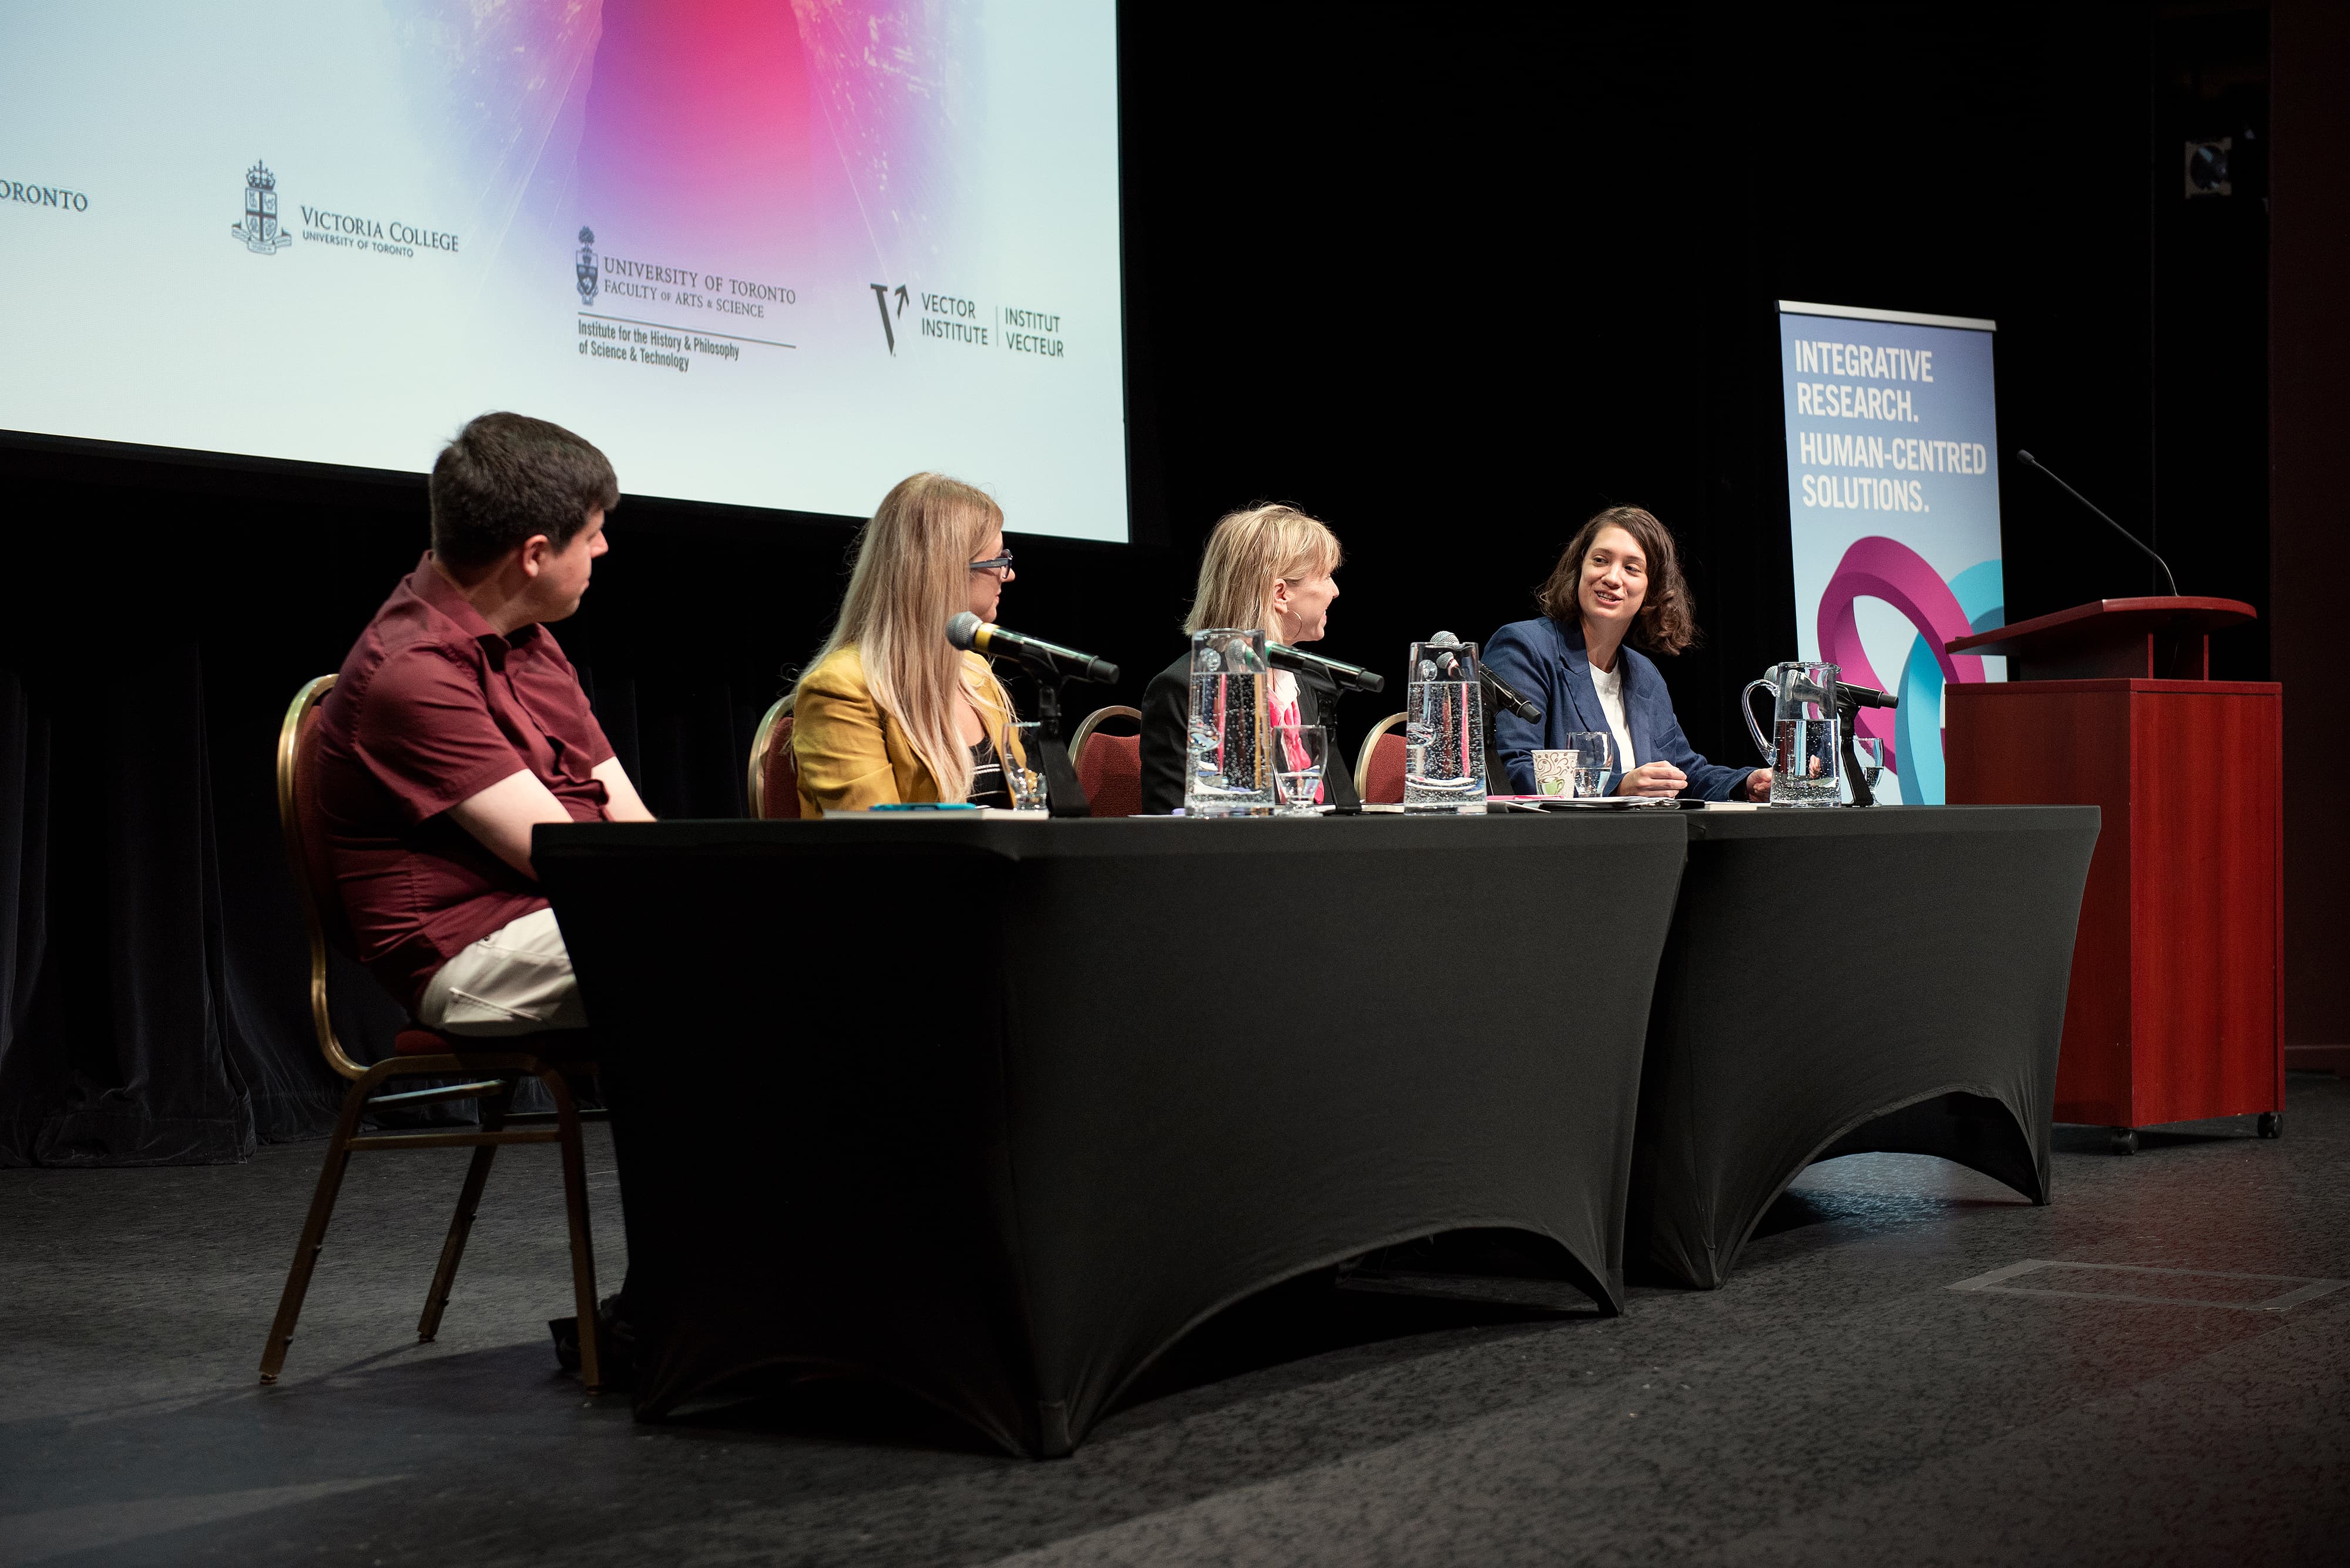
M2235 599L2103 599L1962 636L2007 681L1943 685L1950 805L2099 805L2056 1120L2284 1113L2284 688L2211 681ZM1998 976L1986 976L1998 984Z

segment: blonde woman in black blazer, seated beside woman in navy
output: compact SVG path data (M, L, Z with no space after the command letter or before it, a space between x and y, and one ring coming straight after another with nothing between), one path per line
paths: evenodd
M1198 592L1184 631L1208 627L1264 627L1264 641L1311 643L1330 624L1337 599L1337 535L1297 507L1250 507L1217 521L1198 561ZM1318 674L1276 669L1267 709L1285 716L1297 704L1297 723L1328 725L1337 714L1337 685ZM1191 732L1191 650L1142 692L1142 815L1163 817L1182 805ZM1344 768L1337 732L1323 765L1323 800L1356 805L1354 772Z

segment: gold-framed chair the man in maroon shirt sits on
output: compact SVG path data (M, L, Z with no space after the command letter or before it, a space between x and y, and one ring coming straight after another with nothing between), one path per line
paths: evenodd
M432 1286L425 1291L423 1317L416 1319L416 1340L430 1343L439 1333L442 1310L456 1284L456 1265L465 1256L465 1237L472 1232L472 1216L482 1204L482 1188L489 1183L489 1162L510 1143L559 1143L564 1164L564 1214L571 1225L571 1296L580 1322L580 1383L590 1394L602 1392L604 1368L595 1333L595 1239L588 1230L588 1160L580 1150L580 1122L599 1117L599 1110L580 1110L571 1094L571 1077L595 1073L585 1030L562 1030L545 1035L512 1035L477 1047L470 1040L442 1035L416 1023L402 1028L392 1042L392 1054L374 1066L350 1059L334 1033L334 1016L327 1009L327 951L329 944L350 953L350 927L343 920L341 894L327 876L317 843L315 782L308 770L308 751L317 725L317 709L334 688L334 676L320 676L303 685L287 707L277 730L277 822L284 829L287 864L294 871L294 887L301 897L303 925L310 932L310 1023L317 1030L317 1049L327 1066L350 1080L343 1096L343 1113L336 1117L334 1136L327 1143L327 1164L317 1174L317 1190L310 1197L310 1214L294 1246L294 1268L287 1270L284 1293L277 1298L277 1317L270 1322L268 1347L261 1352L261 1380L277 1383L284 1371L287 1345L294 1340L294 1324L301 1319L303 1296L310 1291L310 1275L327 1244L327 1221L334 1218L334 1199L343 1188L343 1171L352 1155L397 1153L418 1148L470 1148L472 1162L465 1167L465 1185L458 1188L456 1216L449 1221L449 1237L442 1242L439 1265L432 1270ZM397 1077L458 1077L465 1082L409 1089L404 1094L376 1094ZM555 1101L552 1113L515 1113L515 1089L524 1077L545 1084ZM369 1110L409 1110L444 1101L479 1101L479 1129L435 1131L360 1131L360 1120ZM552 1122L552 1124L550 1124Z

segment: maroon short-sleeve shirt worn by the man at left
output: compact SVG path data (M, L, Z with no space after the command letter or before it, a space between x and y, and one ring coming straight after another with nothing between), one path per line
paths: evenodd
M360 634L317 718L327 866L360 962L414 1007L461 948L545 908L538 883L446 812L529 770L573 822L609 822L611 742L545 627L508 636L428 554Z

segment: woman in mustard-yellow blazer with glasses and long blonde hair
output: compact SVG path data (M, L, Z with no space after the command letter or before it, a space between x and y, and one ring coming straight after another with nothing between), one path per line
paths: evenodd
M961 610L992 622L1010 580L1003 509L985 491L914 474L881 498L841 617L794 688L801 817L895 800L1010 805L1003 758L1025 763L1010 695L985 657L947 641Z

